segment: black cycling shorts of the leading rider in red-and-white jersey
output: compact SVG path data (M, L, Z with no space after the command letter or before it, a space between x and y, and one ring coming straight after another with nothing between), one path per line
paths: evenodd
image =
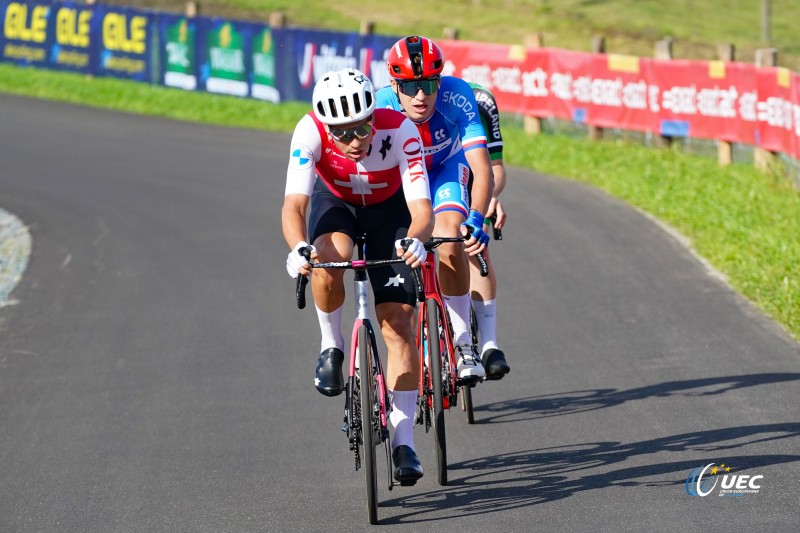
M353 242L366 234L367 259L396 259L394 243L408 235L411 214L403 190L377 205L356 206L336 197L317 179L311 195L308 227L311 242L326 233L344 233ZM411 268L397 263L367 270L375 304L385 302L416 305Z

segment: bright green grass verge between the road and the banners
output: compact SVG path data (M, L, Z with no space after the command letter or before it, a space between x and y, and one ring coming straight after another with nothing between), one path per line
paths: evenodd
M273 105L0 64L0 92L235 127L291 131L305 103ZM504 129L507 160L589 183L653 214L800 337L800 194L750 165L614 141Z

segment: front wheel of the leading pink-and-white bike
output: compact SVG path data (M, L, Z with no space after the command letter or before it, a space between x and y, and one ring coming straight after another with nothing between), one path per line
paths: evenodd
M358 328L358 363L360 373L359 403L361 407L361 443L364 452L364 481L367 488L367 515L370 524L378 523L378 465L375 453L373 398L374 384L372 344L367 326Z

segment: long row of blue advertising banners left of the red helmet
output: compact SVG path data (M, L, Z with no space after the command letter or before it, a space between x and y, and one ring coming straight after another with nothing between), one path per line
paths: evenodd
M325 72L389 83L380 35L143 11L74 0L0 0L0 61L279 103L310 101Z

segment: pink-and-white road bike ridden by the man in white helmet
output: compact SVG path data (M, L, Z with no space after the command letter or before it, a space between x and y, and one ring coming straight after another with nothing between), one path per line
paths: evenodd
M398 259L365 259L365 236L356 239L358 259L327 263L311 263L311 268L335 268L354 271L356 319L350 340L350 360L348 366L347 386L345 388L344 426L350 443L350 450L355 454L355 468L364 467L366 482L367 515L370 524L378 523L378 455L377 450L383 448L386 456L388 488L401 485L392 479L393 465L391 442L389 440L388 410L390 406L386 376L378 353L375 340L375 329L370 320L369 281L367 269L404 263ZM310 261L310 250L301 248L306 259ZM412 273L416 272L412 269ZM414 276L417 287L420 287L418 273ZM305 287L307 276L297 277L297 307L303 309L306 304ZM420 290L417 290L418 297Z

